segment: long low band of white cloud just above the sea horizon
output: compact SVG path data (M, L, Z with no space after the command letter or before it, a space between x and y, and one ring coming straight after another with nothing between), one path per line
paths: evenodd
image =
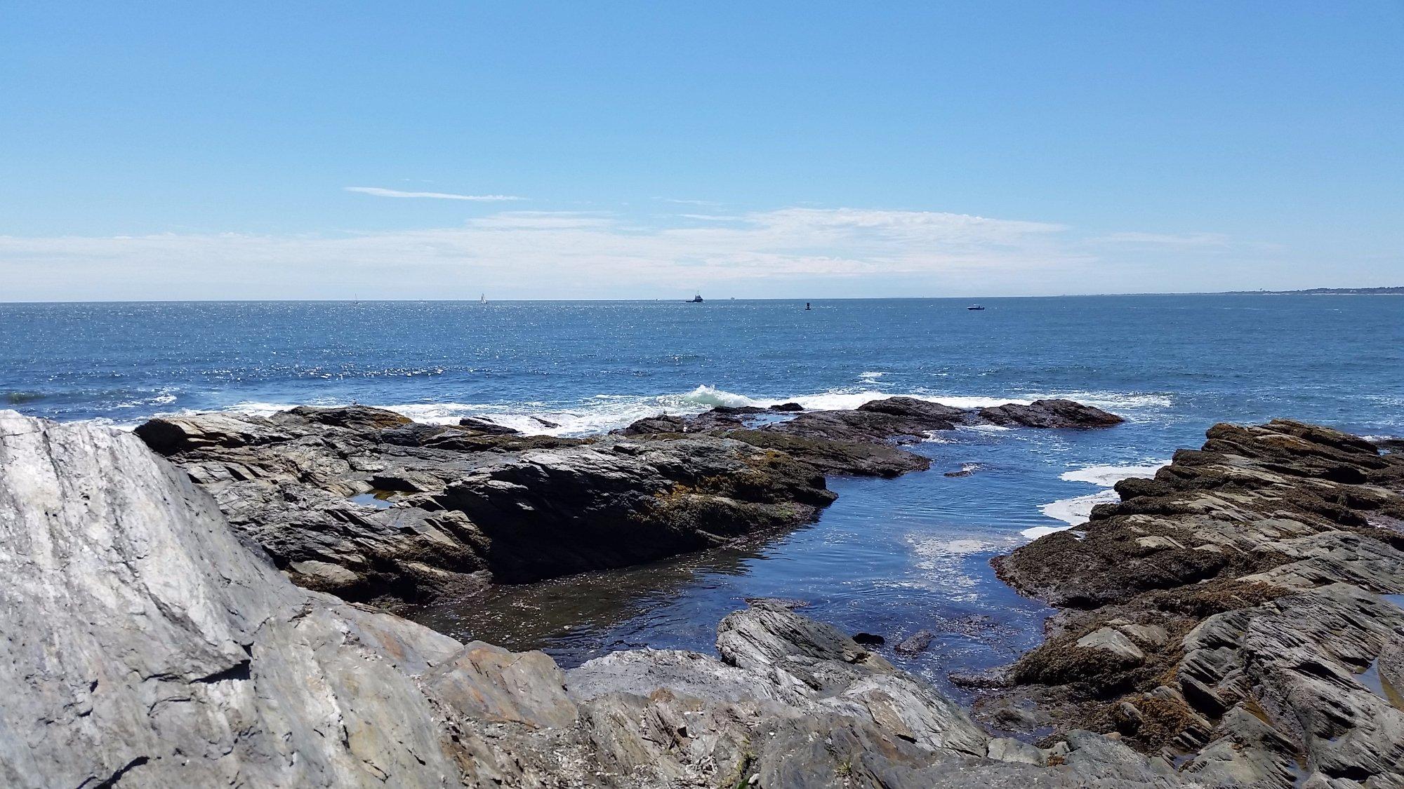
M455 227L336 236L0 236L0 281L18 299L337 298L362 284L399 298L456 298L465 288L532 298L703 285L814 292L824 282L841 293L952 295L1085 292L1075 284L1134 279L1137 263L1151 260L1109 263L1099 250L1113 247L1064 225L929 211L783 208L640 222L504 211Z

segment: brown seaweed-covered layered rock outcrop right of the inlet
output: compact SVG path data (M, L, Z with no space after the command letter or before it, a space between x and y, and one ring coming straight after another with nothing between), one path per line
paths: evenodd
M1404 786L1404 456L1219 424L998 560L1063 611L990 722L1118 733L1212 785Z

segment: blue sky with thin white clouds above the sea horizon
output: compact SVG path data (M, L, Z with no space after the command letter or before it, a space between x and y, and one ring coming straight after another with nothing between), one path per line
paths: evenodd
M1376 285L1401 0L0 7L0 302Z

